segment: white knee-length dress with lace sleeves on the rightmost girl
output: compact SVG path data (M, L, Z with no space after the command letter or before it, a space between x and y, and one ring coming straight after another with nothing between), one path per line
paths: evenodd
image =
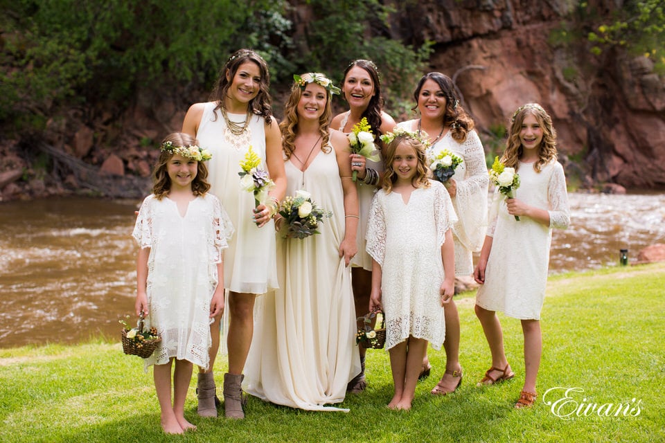
M520 188L515 198L547 210L549 226L529 217L515 220L508 214L505 196L495 192L493 217L487 235L493 237L485 270L485 284L478 289L476 304L506 316L540 320L545 297L552 228L570 224L566 177L558 161L533 170L533 163L518 165ZM498 200L498 201L497 201Z

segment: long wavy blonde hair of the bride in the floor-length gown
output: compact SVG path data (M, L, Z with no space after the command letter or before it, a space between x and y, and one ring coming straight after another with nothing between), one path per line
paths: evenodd
M282 150L286 159L290 159L296 149L296 132L298 132L298 102L303 96L303 90L298 82L294 82L291 87L291 94L284 105L284 120L279 124L282 132ZM323 114L319 117L319 134L321 134L321 150L328 154L330 148L330 119L332 118L332 107L330 105L330 91L326 91L326 107Z

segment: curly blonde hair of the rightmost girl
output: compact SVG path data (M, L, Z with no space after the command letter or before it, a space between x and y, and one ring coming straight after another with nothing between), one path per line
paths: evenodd
M552 125L552 118L547 112L538 105L538 103L527 103L515 111L511 118L511 126L506 141L506 150L502 156L504 165L517 170L520 165L520 157L524 154L522 141L520 141L520 132L522 132L522 123L526 116L534 116L538 125L542 128L542 141L538 147L538 160L533 163L535 172L540 172L544 165L550 161L556 160L556 130Z

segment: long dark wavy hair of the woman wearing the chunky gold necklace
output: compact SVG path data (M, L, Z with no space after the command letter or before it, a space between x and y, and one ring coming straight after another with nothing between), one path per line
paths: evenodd
M253 114L262 116L267 123L272 123L272 107L270 105L270 72L268 71L268 64L263 60L263 57L251 49L238 49L220 70L220 75L215 82L215 87L210 94L209 100L217 102L215 111L224 107L224 98L229 92L229 86L233 82L233 78L238 72L241 64L246 62L253 62L258 66L261 75L259 84L259 91L256 97L249 100L249 109ZM228 74L228 76L227 76Z

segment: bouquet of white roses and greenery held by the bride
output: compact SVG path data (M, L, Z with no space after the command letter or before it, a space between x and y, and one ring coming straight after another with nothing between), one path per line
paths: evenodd
M285 197L278 213L286 223L284 237L300 239L319 234L317 230L319 221L323 221L323 217L332 216L330 211L319 208L312 201L310 193L305 190L297 190L295 196Z

